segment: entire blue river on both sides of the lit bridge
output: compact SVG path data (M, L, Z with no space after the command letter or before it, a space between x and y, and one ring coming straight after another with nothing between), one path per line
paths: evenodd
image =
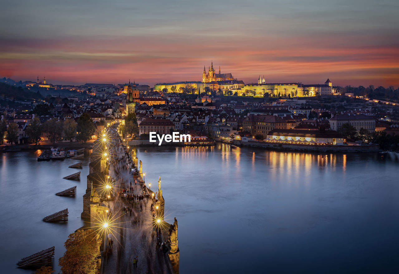
M216 145L142 147L146 183L161 176L167 219L178 219L181 273L397 273L397 156L311 154ZM83 225L78 160L0 155L2 273ZM54 194L77 185L76 198ZM68 207L66 224L41 219Z

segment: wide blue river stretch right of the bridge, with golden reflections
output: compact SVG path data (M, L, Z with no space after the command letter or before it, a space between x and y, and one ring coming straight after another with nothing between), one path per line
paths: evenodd
M399 273L399 162L379 154L148 147L181 273Z

